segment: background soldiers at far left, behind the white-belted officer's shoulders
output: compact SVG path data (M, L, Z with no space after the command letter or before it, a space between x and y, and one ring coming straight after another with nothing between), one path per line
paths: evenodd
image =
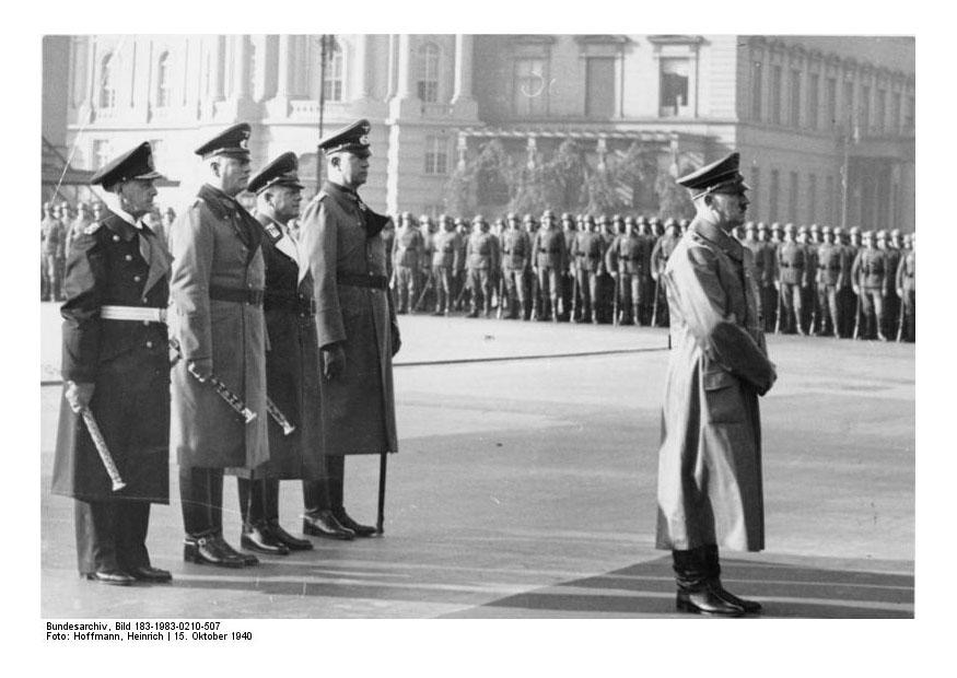
M39 239L40 301L65 300L63 272L73 243L87 226L102 220L106 213L106 207L98 200L80 201L75 207L65 200L44 202ZM165 239L175 220L176 211L171 207L163 211L153 209L143 221Z

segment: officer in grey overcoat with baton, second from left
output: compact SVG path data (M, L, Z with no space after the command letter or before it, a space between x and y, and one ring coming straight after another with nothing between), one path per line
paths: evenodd
M269 459L264 235L236 201L249 182L249 131L233 125L196 149L206 183L170 232L171 335L183 358L173 370L170 445L179 461L183 556L223 568L259 562L223 538L223 472L249 475ZM255 418L237 414L215 383Z

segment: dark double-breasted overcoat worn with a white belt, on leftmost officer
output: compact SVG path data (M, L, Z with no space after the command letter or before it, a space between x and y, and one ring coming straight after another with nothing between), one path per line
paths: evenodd
M60 401L52 491L81 501L170 498L170 356L166 326L106 320L105 305L165 308L170 255L155 235L107 213L75 241L67 262L63 381L94 384L90 410L126 487L109 477L83 419Z

